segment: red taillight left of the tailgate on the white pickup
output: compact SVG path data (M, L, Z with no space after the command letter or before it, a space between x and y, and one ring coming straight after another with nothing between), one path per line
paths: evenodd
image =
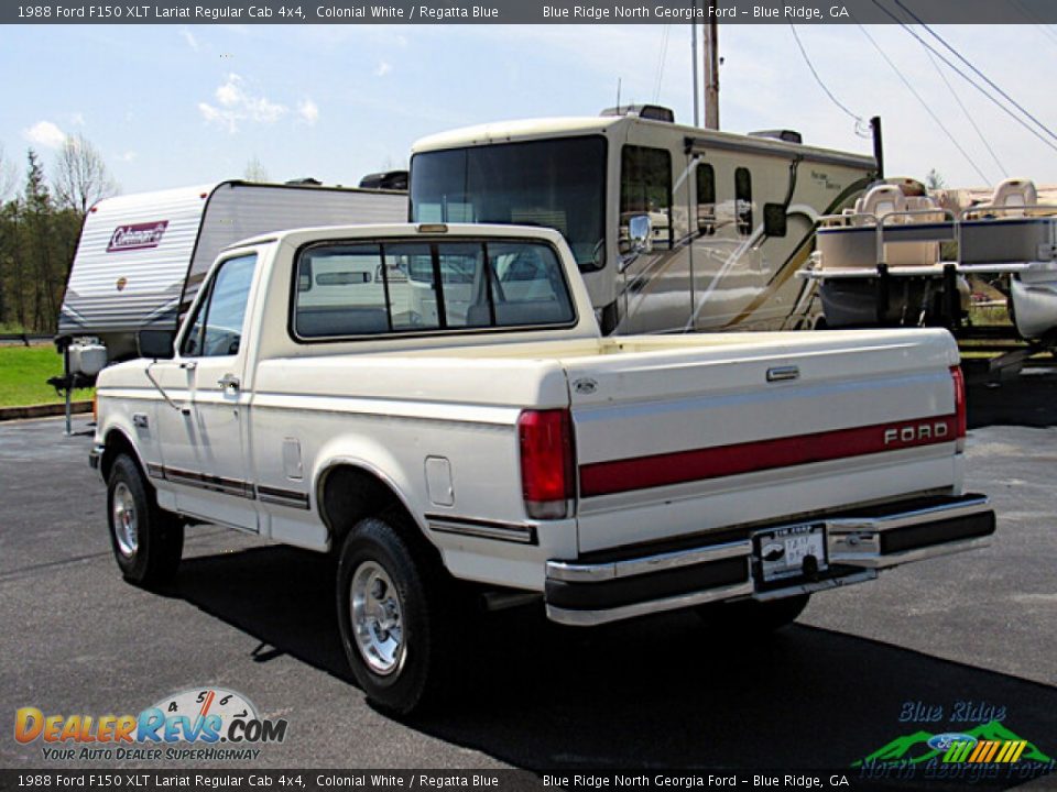
M525 410L517 419L521 486L533 519L562 519L576 497L573 420L569 411Z

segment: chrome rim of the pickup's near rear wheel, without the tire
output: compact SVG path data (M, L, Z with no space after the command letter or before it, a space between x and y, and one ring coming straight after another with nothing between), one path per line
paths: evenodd
M356 568L349 604L363 662L381 676L400 669L406 653L403 612L396 586L381 564L364 561Z

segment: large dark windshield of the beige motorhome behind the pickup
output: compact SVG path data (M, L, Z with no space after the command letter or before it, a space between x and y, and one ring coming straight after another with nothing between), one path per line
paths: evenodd
M565 237L580 270L606 264L606 140L503 143L415 154L415 222L545 226Z

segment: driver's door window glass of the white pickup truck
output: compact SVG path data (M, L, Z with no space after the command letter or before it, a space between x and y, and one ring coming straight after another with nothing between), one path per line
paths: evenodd
M239 353L255 266L255 254L220 264L184 339L181 349L184 355L217 358Z

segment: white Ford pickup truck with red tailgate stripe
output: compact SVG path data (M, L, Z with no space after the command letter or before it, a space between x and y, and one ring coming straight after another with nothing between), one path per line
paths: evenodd
M330 551L349 662L399 713L467 591L763 629L994 531L946 331L602 338L551 230L252 239L140 348L99 376L91 454L124 576L172 575L195 522Z

